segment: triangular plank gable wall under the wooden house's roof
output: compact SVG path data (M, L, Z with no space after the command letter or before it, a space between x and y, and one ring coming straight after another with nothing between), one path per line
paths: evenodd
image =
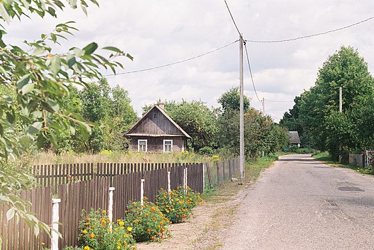
M148 135L184 135L157 108L151 110L148 115L139 122L139 124L132 128L131 133Z

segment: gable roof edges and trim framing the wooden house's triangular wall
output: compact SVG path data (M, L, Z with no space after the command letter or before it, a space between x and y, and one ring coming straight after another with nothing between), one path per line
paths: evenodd
M181 134L177 135L177 134L167 134L167 133L161 133L161 134L137 133L136 130L139 124L142 124L143 122L145 122L145 119L147 119L149 117L149 114L154 112L154 110L161 113L168 120L168 122L170 122L177 129L177 131L179 131L179 133ZM145 113L145 115L143 115L143 117L140 118L140 120L134 126L132 126L132 128L130 128L130 130L125 135L128 135L128 136L181 136L181 135L184 135L186 136L186 138L191 138L190 135L188 135L188 133L186 133L186 131L183 130L183 128L181 128L176 122L174 122L174 120L168 114L165 113L165 110L158 107L157 105L154 105L152 108L150 108L148 112Z

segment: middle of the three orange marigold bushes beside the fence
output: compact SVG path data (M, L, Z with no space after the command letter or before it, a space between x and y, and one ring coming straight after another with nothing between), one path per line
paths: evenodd
M161 240L169 235L169 220L158 206L147 201L146 197L143 206L139 201L128 204L125 222L131 226L136 242Z

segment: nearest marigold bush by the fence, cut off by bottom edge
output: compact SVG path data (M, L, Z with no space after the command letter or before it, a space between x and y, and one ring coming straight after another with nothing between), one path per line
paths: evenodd
M82 249L112 250L133 249L135 241L131 234L132 228L121 219L111 222L105 210L83 210L79 222L79 246Z

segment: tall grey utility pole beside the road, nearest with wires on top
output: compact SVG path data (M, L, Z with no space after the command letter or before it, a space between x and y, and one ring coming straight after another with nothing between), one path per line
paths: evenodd
M241 171L241 178L243 179L245 176L244 173L244 91L243 91L243 37L239 35L239 67L240 67L240 113L239 113L239 120L240 120L240 156L239 156L239 169Z

